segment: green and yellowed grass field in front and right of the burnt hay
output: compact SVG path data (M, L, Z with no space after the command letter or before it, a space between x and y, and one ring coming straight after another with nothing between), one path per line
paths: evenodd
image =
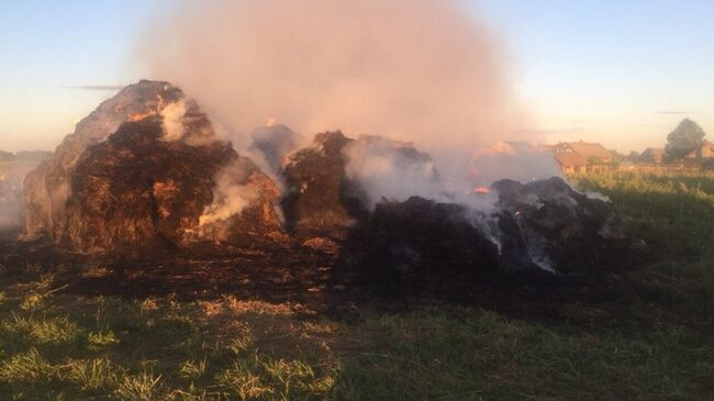
M574 181L651 255L572 319L83 298L35 266L2 279L0 400L714 399L714 177Z

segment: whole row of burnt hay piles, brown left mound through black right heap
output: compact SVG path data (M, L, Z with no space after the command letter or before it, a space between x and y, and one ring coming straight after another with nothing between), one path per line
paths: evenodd
M498 181L487 211L419 197L370 200L346 174L346 148L366 141L393 148L405 166L431 164L409 144L341 132L294 151L298 136L277 126L254 133L265 174L219 138L180 89L142 81L102 103L27 176L24 237L144 259L311 249L368 277L416 283L583 272L622 238L611 203L559 178Z

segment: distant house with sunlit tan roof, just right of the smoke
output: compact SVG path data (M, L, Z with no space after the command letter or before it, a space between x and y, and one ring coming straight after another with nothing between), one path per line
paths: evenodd
M615 159L612 152L598 143L561 142L557 145L545 145L544 148L554 153L564 174L606 171Z

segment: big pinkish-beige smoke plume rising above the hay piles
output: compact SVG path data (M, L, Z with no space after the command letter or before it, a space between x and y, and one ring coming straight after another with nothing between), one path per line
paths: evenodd
M413 142L461 181L476 148L538 140L517 130L527 119L501 44L457 0L183 1L163 20L143 62L237 147L268 120L305 138L377 134Z

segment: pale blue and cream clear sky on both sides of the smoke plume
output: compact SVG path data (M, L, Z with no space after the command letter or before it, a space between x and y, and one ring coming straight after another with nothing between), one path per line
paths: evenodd
M714 1L461 1L503 44L523 130L627 153L663 146L690 118L714 138ZM54 149L101 100L145 78L137 43L171 5L1 1L0 149Z

